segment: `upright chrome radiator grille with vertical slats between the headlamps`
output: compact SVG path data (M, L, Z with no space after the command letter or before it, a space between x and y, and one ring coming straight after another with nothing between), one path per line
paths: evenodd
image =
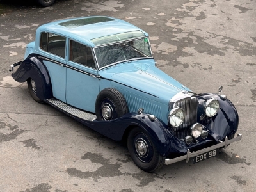
M197 105L197 97L186 98L175 102L175 106L184 110L184 122L179 127L172 127L173 133L180 140L191 134L190 127L196 123L197 119Z

